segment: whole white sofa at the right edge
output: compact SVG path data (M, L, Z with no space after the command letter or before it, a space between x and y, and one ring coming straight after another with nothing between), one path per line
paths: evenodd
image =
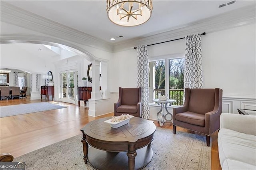
M222 113L218 148L222 170L256 170L256 116Z

